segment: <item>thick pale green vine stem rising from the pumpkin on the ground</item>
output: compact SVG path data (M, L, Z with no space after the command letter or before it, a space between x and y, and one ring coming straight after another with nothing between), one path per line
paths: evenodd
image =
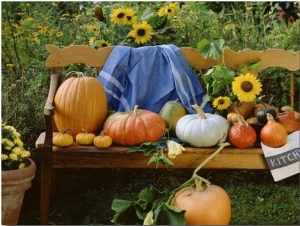
M175 188L172 192L171 195L169 196L168 200L167 200L167 204L169 204L171 202L171 200L173 199L173 197L175 196L176 192L184 187L190 187L193 185L200 185L201 183L199 183L199 181L201 182L205 182L206 184L209 184L209 181L200 177L198 175L198 172L200 171L200 169L202 169L202 167L204 167L208 162L210 162L217 154L219 154L223 148L225 148L226 146L229 146L230 143L229 142L225 142L225 143L221 143L219 148L212 153L207 159L205 159L193 172L192 177L190 179L188 179L186 182L184 182L183 184L181 184L179 187ZM197 191L201 191L201 187L197 186Z

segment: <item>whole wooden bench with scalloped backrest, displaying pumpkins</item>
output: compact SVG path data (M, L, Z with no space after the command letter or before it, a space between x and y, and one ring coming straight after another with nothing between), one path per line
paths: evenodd
M59 49L47 45L51 53L46 61L46 66L51 67L51 83L48 98L44 108L46 131L37 141L36 147L41 149L41 224L48 224L49 205L54 185L55 171L58 168L153 168L154 164L147 165L150 157L145 157L140 152L128 153L128 147L113 145L106 149L94 146L79 146L75 142L69 147L56 147L52 145L52 137L56 132L53 115L55 108L53 99L57 88L61 84L62 69L73 63L84 63L95 68L98 74L105 64L107 57L114 47L95 50L87 46L71 46ZM220 60L204 59L197 49L182 47L184 56L189 64L201 70L206 70L220 64ZM260 70L269 67L282 67L291 71L291 106L294 106L294 72L299 70L299 51L296 53L284 50L268 49L256 52L246 49L235 52L224 50L224 59L228 67L240 69L244 65L262 61ZM216 150L211 148L185 147L186 151L172 162L175 168L196 168L203 160ZM238 149L228 146L221 151L205 168L211 169L267 169L263 152L260 147Z

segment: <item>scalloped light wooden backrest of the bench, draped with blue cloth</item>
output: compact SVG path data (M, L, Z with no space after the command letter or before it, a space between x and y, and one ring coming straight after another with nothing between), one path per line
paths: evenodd
M46 60L45 65L52 68L51 73L53 76L51 82L53 83L59 82L61 69L73 63L88 64L95 67L96 71L99 72L99 69L105 64L109 54L114 49L113 46L109 46L96 50L92 47L80 45L63 49L54 45L47 45L46 48L50 52L50 56ZM181 47L181 50L188 63L198 69L209 69L215 65L221 64L224 59L225 64L235 70L239 70L243 66L251 63L262 62L259 68L255 71L251 71L254 75L257 75L259 71L269 67L281 67L291 71L290 105L294 107L294 72L300 69L299 51L292 53L281 49L267 49L258 52L251 49L245 49L236 52L226 48L224 49L223 56L218 60L214 60L212 58L205 59L195 48ZM53 104L51 100L53 100L54 94L54 90L49 92L50 96L47 100L48 106ZM47 111L47 104L45 111Z

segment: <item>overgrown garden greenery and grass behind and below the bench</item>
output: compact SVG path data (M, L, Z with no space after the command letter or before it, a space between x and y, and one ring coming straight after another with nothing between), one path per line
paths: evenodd
M50 70L46 44L59 47L128 42L127 30L113 26L109 14L131 7L139 18L171 2L1 2L2 122L17 128L38 171L27 191L20 224L39 224L40 152L35 140L44 130L43 107ZM160 35L150 45L173 43L197 47L202 39L225 40L233 50L281 48L299 50L299 3L296 2L179 2L179 10L165 23L156 21ZM96 9L96 10L95 10ZM101 11L99 11L101 9ZM99 14L100 12L100 14ZM102 14L101 14L102 13ZM87 70L72 65L71 70ZM264 70L263 94L273 105L289 104L289 73ZM295 92L299 93L299 73ZM299 96L295 108L299 110ZM180 157L180 156L179 156ZM145 158L145 164L147 159ZM52 224L110 224L114 198L135 199L141 189L176 186L191 170L60 170ZM232 201L231 224L299 224L299 175L275 183L268 170L203 170L203 177L225 188Z

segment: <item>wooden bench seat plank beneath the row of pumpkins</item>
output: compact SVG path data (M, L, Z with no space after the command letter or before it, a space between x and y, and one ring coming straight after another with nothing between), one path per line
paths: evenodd
M45 133L37 140L37 147L43 145ZM39 142L39 143L38 143ZM147 165L150 157L141 152L128 153L126 146L113 145L99 149L95 146L82 146L74 142L68 147L52 147L53 168L155 168ZM171 159L171 168L196 168L208 158L217 147L196 148L186 146L185 151ZM167 154L167 153L166 153ZM70 159L69 157L72 156ZM116 156L118 156L116 158ZM88 164L87 164L88 163ZM131 163L131 164L129 164ZM162 164L159 167L164 167ZM233 146L224 148L204 168L210 169L267 169L267 164L260 147L238 149Z

